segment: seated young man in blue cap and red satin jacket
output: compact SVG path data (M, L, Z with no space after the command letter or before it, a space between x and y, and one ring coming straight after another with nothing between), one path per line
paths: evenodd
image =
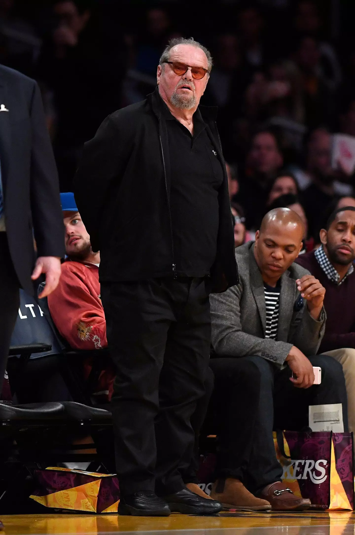
M90 236L81 220L73 193L60 194L65 227L66 261L61 265L61 279L48 297L48 307L61 336L74 349L101 349L107 346L106 321L100 298L98 266L100 253L93 253ZM92 359L84 362L87 377ZM94 392L96 401L109 401L113 391L115 368L105 366Z

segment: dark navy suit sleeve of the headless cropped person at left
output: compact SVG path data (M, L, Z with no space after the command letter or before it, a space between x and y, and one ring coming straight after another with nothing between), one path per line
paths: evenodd
M32 136L30 202L38 256L64 257L64 225L58 174L42 104L34 82L30 106Z

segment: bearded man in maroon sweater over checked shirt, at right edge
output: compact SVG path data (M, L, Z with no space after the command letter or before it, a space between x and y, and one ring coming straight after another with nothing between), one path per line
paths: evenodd
M320 231L319 249L296 262L326 288L326 331L319 353L333 356L343 366L348 394L349 430L355 431L355 208L335 210Z

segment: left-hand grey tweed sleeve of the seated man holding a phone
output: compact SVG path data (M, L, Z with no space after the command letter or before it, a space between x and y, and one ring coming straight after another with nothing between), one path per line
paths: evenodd
M223 294L211 294L212 346L218 356L257 355L281 366L292 343L259 338L242 331L240 300L242 286L232 286Z

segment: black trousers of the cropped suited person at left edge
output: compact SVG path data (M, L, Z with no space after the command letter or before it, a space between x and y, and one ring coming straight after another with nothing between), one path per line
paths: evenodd
M19 281L10 257L6 232L0 232L0 395L12 331L20 306Z

